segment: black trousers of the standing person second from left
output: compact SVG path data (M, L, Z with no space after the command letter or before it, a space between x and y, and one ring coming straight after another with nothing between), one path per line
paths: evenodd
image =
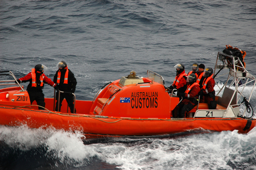
M74 104L73 104L74 97L70 93L62 93L62 92L60 93L60 96L59 96L59 110L61 108L61 105L62 105L61 103L62 103L64 98L66 99L66 102L67 102L67 104L70 108L71 113L73 113L73 111L74 111ZM56 92L56 100L57 101L56 101L55 111L58 111L58 92Z

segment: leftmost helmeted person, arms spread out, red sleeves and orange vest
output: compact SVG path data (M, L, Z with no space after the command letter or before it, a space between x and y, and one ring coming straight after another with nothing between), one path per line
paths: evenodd
M37 64L32 68L31 72L26 74L24 77L18 78L17 82L27 82L27 92L30 98L30 103L35 100L38 106L38 109L44 110L45 102L44 102L44 94L42 93L42 89L44 83L47 83L53 86L55 89L58 89L58 86L48 78L43 71L46 70L47 67L43 64ZM41 107L40 107L41 106Z

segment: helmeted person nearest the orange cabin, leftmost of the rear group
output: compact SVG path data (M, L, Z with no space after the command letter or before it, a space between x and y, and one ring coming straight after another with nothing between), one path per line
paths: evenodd
M184 92L186 90L186 78L187 74L185 73L185 66L183 64L174 65L176 68L176 77L169 86L169 89L172 91L173 89L177 89L179 92ZM169 91L169 92L171 92Z

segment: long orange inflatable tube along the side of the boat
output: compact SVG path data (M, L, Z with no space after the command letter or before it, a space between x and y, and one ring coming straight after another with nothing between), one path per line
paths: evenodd
M244 118L125 118L11 107L1 107L0 112L2 125L80 131L86 138L161 135L198 129L247 133L256 124L256 119Z

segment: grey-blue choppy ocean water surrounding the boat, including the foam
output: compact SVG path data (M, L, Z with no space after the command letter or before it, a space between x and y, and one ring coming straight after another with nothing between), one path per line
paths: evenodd
M53 78L64 60L82 100L131 70L150 69L170 85L176 63L186 72L193 62L214 67L226 44L246 51L255 76L255 0L0 0L0 70L19 78L41 63ZM43 92L53 96L49 85ZM252 170L255 140L256 128L86 141L79 132L0 126L0 169Z

